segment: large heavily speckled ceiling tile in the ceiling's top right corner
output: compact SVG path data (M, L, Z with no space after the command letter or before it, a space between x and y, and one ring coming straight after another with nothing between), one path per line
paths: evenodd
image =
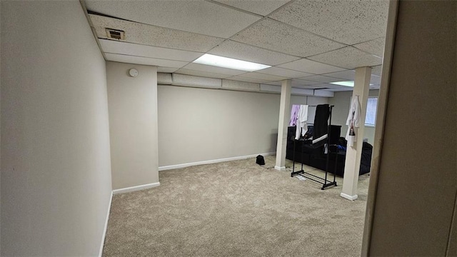
M301 0L269 17L352 45L385 36L388 3L388 0Z

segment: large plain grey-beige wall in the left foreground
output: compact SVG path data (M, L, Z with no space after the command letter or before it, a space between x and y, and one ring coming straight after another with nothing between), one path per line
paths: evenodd
M1 1L1 256L98 256L105 61L79 1Z

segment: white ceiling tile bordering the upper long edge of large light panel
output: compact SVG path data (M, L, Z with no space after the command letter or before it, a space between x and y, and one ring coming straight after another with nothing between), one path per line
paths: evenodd
M208 53L243 61L252 61L258 64L268 64L271 66L300 59L296 56L281 54L231 40L222 42Z

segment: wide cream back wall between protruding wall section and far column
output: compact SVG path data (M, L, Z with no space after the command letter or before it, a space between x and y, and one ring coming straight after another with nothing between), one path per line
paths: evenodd
M276 151L279 94L159 85L159 166Z

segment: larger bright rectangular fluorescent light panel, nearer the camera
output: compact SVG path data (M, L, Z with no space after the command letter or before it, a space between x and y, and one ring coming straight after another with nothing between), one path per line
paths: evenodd
M266 69L271 66L265 64L256 64L251 61L241 61L222 56L215 56L212 54L204 54L199 59L193 61L195 64L205 64L211 66L218 66L228 69L236 69L241 71L258 71Z

